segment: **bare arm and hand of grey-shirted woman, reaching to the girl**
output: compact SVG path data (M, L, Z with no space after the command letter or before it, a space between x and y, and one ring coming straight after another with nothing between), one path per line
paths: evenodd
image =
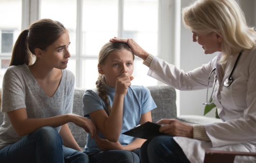
M76 114L63 114L49 118L28 119L27 110L25 108L9 111L7 114L18 136L28 135L44 126L58 127L67 122L73 122L84 128L87 133L91 133L92 137L97 134L96 126L89 119Z

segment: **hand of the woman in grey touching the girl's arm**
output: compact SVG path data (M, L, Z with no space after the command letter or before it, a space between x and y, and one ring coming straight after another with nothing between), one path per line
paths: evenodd
M87 133L91 134L91 139L98 136L97 127L90 119L87 119L77 114L69 115L71 116L71 122L75 123L79 127L82 127Z

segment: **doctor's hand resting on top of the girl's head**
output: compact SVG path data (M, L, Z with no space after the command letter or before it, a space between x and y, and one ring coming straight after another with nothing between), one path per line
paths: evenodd
M110 39L110 42L124 42L124 43L127 43L130 46L132 52L135 55L139 56L143 60L147 59L148 53L145 50L143 50L140 47L140 45L138 45L133 39L122 39L122 38L114 37L114 39Z

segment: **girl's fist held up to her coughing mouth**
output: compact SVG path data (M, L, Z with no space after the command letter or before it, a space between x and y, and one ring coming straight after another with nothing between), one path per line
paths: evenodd
M134 79L133 76L128 76L127 73L123 73L122 75L116 78L115 82L115 94L126 95L127 89L131 85L131 81Z

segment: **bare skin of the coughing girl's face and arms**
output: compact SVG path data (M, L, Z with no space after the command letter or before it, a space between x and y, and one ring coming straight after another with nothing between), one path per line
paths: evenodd
M101 109L91 112L89 115L99 131L106 139L96 137L96 144L102 150L123 149L134 150L140 148L145 139L137 138L127 146L122 146L119 136L123 122L123 103L128 87L133 80L133 55L128 50L113 51L108 54L103 65L98 65L100 74L105 75L106 84L115 88L115 95L111 113ZM132 116L132 115L131 115ZM99 118L100 117L100 118ZM152 121L151 111L142 114L140 124Z

